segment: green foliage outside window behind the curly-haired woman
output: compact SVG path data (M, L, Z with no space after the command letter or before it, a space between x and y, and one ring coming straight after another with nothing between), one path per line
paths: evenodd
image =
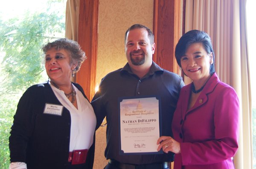
M47 12L29 13L23 19L0 17L0 169L9 168L9 132L17 102L31 85L47 81L41 46L64 37L65 0L48 0ZM52 6L51 6L52 5Z

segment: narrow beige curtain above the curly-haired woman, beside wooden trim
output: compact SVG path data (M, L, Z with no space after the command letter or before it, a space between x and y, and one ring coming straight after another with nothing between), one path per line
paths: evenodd
M78 40L79 0L67 0L66 6L66 32L68 39Z

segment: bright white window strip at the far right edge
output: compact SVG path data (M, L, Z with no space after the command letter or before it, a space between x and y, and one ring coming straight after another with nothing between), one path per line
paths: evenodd
M253 169L256 169L256 66L254 65L256 62L255 57L255 39L256 39L256 1L255 0L247 0L246 4L246 15L247 15L247 37L248 37L248 51L249 51L249 60L250 60L250 80L251 80L251 92L252 92L252 140L253 140Z

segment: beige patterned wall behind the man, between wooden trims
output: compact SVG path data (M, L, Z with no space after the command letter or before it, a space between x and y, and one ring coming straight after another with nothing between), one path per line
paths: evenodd
M154 0L99 0L99 39L96 68L96 83L109 72L126 64L124 36L133 24L140 23L153 31ZM103 169L108 163L106 127L96 131L94 169Z

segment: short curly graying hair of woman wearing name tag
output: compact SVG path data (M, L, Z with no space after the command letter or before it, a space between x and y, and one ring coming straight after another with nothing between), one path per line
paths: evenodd
M80 45L76 41L67 38L60 38L53 42L48 42L42 47L42 50L44 54L46 54L47 51L52 48L55 48L56 50L65 49L69 52L70 62L77 63L74 73L80 69L82 62L86 59L85 52L81 50Z

